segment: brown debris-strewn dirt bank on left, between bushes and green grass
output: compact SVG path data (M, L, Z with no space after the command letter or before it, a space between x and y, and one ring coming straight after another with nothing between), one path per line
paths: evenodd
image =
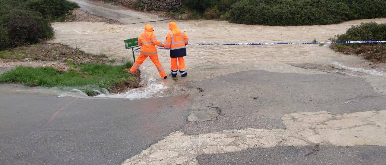
M68 62L102 62L108 64L109 61L104 54L85 53L80 49L73 49L64 44L25 45L0 52L0 74L20 65L51 66L60 71L67 71L72 68L66 65Z

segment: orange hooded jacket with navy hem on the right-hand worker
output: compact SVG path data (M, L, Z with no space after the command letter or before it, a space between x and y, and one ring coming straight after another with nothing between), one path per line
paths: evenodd
M185 45L188 44L189 38L184 31L178 29L176 22L169 23L170 32L166 36L164 47L170 49L170 57L186 56Z

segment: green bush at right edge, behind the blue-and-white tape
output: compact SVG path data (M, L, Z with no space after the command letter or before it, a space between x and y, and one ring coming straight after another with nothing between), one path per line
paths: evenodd
M362 23L347 29L345 34L336 35L332 41L349 40L386 40L386 23L376 22ZM357 47L359 44L350 44Z

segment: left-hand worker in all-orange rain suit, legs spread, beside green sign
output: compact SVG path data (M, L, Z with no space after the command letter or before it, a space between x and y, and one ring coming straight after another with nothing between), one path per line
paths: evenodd
M147 57L150 57L151 61L156 65L159 75L163 78L168 78L164 71L163 66L159 62L158 54L156 46L163 47L164 44L158 42L156 39L156 35L153 33L154 29L151 25L145 25L145 32L141 34L138 38L138 45L141 46L141 53L139 53L139 57L135 60L133 66L130 69L130 72L135 72L141 66L141 64L145 61Z

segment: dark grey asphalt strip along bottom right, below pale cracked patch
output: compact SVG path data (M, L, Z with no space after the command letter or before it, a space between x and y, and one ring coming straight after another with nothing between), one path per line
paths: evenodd
M381 165L386 161L386 147L382 146L320 146L312 152L314 146L257 148L243 152L198 156L202 165Z

